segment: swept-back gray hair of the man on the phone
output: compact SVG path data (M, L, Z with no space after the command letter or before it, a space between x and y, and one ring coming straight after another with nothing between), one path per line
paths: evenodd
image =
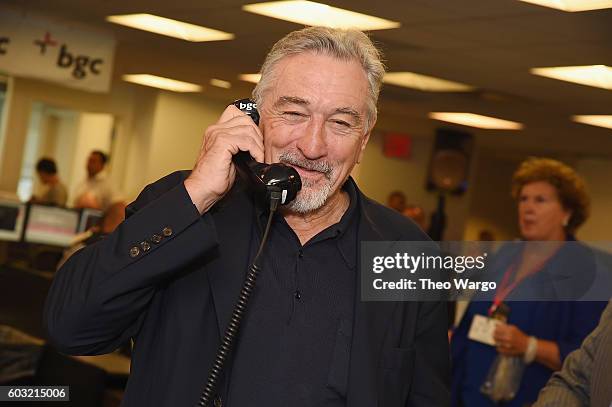
M261 79L253 90L258 105L274 82L274 68L281 59L304 52L321 53L339 60L356 60L368 78L368 116L366 131L376 121L378 94L385 74L382 53L366 34L358 30L340 30L326 27L309 27L293 31L279 40L266 56L261 67Z

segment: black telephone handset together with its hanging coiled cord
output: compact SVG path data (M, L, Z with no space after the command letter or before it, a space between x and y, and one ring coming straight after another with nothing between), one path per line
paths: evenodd
M255 124L259 125L259 112L257 112L257 105L255 102L250 99L241 99L235 101L233 105L249 115ZM240 290L240 295L232 310L232 316L228 326L225 328L225 334L223 338L221 338L217 354L210 368L210 372L208 373L208 379L204 384L204 390L198 400L197 405L200 407L210 406L215 392L217 391L219 379L223 374L225 361L232 352L234 342L240 330L242 318L249 305L251 294L255 289L257 275L261 271L259 259L268 239L268 233L270 232L270 225L272 224L274 213L279 205L286 205L295 199L298 191L302 188L300 175L294 168L288 165L281 163L258 163L246 151L239 151L237 154L234 154L232 161L236 166L238 174L245 179L247 184L255 190L255 193L259 195L261 199L265 199L265 203L270 206L270 213L268 214L268 221L259 243L259 249L246 274L244 284Z

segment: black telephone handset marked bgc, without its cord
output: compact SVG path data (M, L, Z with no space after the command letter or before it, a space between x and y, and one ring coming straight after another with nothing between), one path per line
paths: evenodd
M259 125L259 112L255 102L250 99L240 99L233 105ZM266 203L273 197L279 197L279 203L286 205L295 199L302 188L300 175L288 165L259 163L247 151L235 154L233 162L238 174L255 190L260 199L265 199Z

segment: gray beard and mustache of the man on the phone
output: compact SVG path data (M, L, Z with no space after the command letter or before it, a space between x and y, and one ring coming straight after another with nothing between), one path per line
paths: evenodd
M305 214L316 211L327 202L334 183L335 168L329 161L311 161L296 151L285 151L278 157L279 162L292 164L308 170L319 171L325 175L324 183L315 189L316 181L302 179L302 189L297 197L286 206L291 212Z

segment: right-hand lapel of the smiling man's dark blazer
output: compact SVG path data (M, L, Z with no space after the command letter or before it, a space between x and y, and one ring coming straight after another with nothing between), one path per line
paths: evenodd
M374 407L378 405L377 370L389 319L397 306L393 301L361 301L361 242L386 240L370 219L367 201L359 192L361 218L357 239L357 273L353 337L349 364L347 406Z

